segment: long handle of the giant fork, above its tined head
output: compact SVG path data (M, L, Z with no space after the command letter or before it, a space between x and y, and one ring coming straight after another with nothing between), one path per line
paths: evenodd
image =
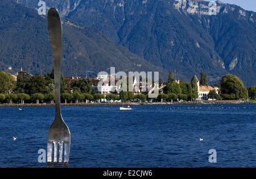
M60 62L61 62L61 43L62 27L58 11L51 8L48 11L48 30L51 40L54 82L55 82L55 119L61 119L60 108Z

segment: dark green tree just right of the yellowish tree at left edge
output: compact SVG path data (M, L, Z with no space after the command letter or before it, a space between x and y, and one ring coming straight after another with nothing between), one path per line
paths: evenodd
M28 94L28 86L30 84L31 74L28 72L19 72L17 76L16 91Z

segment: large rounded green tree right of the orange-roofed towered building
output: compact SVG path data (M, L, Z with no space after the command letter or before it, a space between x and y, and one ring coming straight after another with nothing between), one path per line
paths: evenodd
M232 74L226 74L220 82L221 96L225 99L247 99L248 91L243 86L242 80ZM228 95L226 95L228 94Z

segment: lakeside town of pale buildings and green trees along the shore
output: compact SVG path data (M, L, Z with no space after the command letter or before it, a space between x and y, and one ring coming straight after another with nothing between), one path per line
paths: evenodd
M53 105L53 71L44 76L24 72L11 74L0 71L0 104L2 105ZM111 83L114 79L115 85ZM201 72L200 80L195 75L189 82L174 78L170 72L166 82L151 84L145 90L143 80L133 78L133 91L123 91L117 85L115 74L98 75L94 78L61 76L61 102L64 105L103 105L122 103L209 103L209 102L255 102L256 88L246 88L237 76L226 74L218 84L210 86L207 74ZM98 85L103 81L102 85ZM127 84L128 86L129 84ZM148 94L158 90L156 98Z

